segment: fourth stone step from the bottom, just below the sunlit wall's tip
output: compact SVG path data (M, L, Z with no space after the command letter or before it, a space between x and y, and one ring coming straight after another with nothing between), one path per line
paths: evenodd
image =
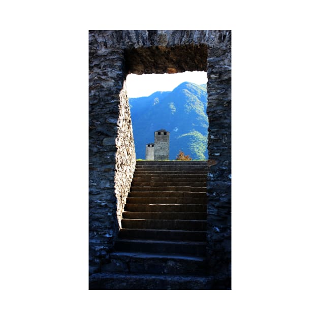
M206 241L206 231L121 229L118 239Z

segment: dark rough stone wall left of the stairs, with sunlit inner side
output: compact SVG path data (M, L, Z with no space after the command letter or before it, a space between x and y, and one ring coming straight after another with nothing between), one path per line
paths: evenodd
M97 50L89 38L89 272L99 272L119 230L115 181L121 176L119 149L128 130L122 90L125 61L122 49ZM131 124L130 124L131 125ZM121 136L122 135L122 136ZM117 145L116 145L117 143ZM134 149L134 147L133 147ZM130 152L128 149L127 151ZM132 154L135 158L135 155ZM129 161L130 163L130 161ZM133 165L133 161L131 164ZM128 171L123 168L122 170ZM130 175L129 175L130 176ZM122 201L123 202L123 201Z

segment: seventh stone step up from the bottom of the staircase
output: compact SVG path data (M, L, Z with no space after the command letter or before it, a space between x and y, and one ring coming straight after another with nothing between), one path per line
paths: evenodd
M124 211L159 211L159 212L207 212L203 204L136 204L126 203Z

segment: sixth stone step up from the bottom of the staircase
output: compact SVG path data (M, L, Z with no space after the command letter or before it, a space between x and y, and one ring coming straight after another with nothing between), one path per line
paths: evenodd
M207 212L130 212L122 213L123 219L207 220Z

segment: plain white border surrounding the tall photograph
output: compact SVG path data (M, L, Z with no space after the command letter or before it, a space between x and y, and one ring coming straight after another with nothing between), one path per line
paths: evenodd
M315 2L1 5L1 318L318 319ZM232 291L88 291L88 29L232 29Z

